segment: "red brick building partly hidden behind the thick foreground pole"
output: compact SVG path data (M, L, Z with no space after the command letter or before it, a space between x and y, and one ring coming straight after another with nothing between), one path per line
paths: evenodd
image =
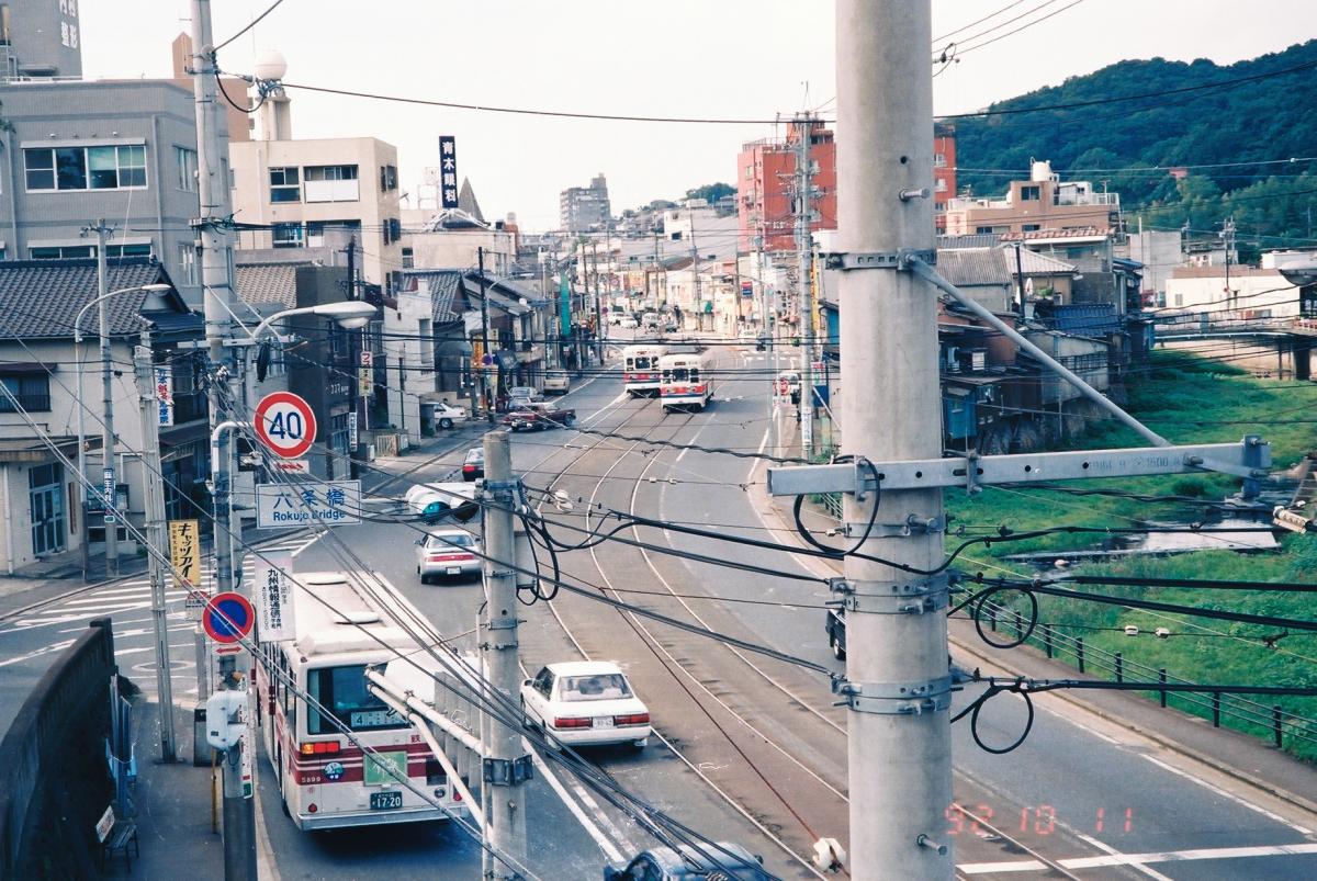
M795 250L795 155L803 125L790 122L785 138L764 138L741 146L736 158L736 205L740 250ZM836 141L822 122L810 126L810 158L815 198L811 229L836 229ZM938 230L946 227L946 201L956 195L956 130L938 124L932 140L932 198ZM761 244L760 244L761 242Z

